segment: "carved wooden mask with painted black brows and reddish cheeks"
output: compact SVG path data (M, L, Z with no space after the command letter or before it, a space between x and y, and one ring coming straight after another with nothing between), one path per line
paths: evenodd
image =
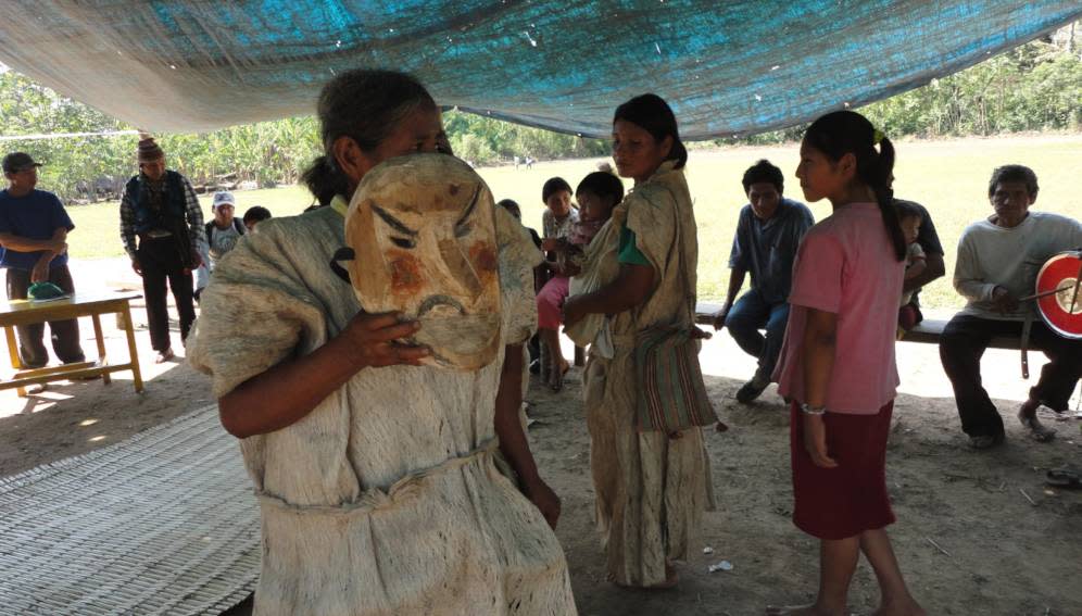
M492 193L446 154L388 160L361 180L345 216L350 281L366 312L420 322L406 342L426 363L475 370L500 349L500 276Z

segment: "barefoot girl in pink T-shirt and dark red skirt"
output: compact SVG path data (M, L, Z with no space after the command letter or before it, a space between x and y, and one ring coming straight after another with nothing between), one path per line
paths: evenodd
M796 177L804 197L829 199L833 214L801 242L775 377L793 401L793 523L820 540L819 593L812 605L769 614L846 614L860 552L880 583L877 614L924 614L885 530L894 521L885 461L906 256L890 189L893 167L891 141L851 111L820 117L801 143Z

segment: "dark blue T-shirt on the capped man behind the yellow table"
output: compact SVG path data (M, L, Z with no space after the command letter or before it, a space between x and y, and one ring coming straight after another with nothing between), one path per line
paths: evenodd
M12 197L7 190L0 191L0 234L12 234L26 239L52 239L56 229L68 231L75 228L64 205L52 192L32 190L23 197ZM43 251L20 252L7 249L0 257L0 267L34 269ZM67 253L58 254L49 267L67 264Z

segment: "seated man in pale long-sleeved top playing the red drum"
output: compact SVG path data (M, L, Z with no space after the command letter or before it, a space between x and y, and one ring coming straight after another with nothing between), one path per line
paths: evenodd
M968 302L951 319L940 340L943 369L954 386L961 429L976 449L987 449L1004 440L1003 419L981 386L981 355L995 336L1020 336L1022 324L1033 318L1033 293L1041 266L1053 255L1082 246L1082 224L1049 214L1030 212L1036 201L1036 174L1022 165L1005 165L992 172L989 199L994 213L973 223L958 240L954 286ZM1082 374L1082 340L1057 336L1040 319L1032 324L1030 339L1050 362L1018 411L1018 418L1039 441L1052 440L1055 430L1043 426L1036 410L1067 410L1067 402Z

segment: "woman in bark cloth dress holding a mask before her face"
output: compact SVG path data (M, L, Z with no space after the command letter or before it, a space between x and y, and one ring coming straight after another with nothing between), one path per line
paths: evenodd
M407 75L361 70L327 84L318 115L325 155L305 181L325 206L238 243L203 294L213 317L189 349L260 498L255 613L574 614L551 528L559 500L518 420L541 254L495 212L496 359L471 372L420 365L429 350L395 342L419 325L361 312L329 262L369 169L450 153L439 108ZM496 449L517 486L496 469Z

